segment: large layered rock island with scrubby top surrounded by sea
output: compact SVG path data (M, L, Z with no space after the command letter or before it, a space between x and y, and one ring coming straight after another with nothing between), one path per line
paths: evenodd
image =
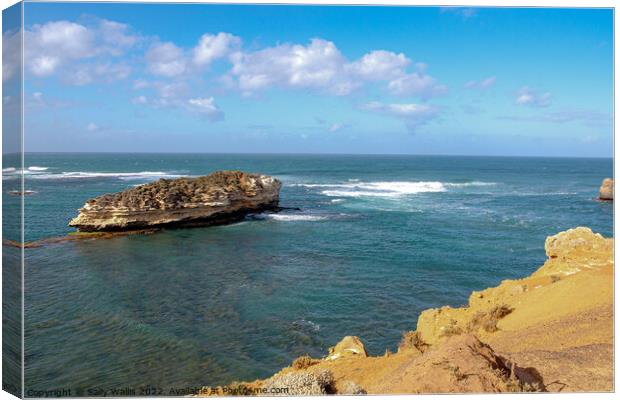
M160 179L90 199L69 222L80 232L219 225L278 210L281 182L271 176L218 171Z

